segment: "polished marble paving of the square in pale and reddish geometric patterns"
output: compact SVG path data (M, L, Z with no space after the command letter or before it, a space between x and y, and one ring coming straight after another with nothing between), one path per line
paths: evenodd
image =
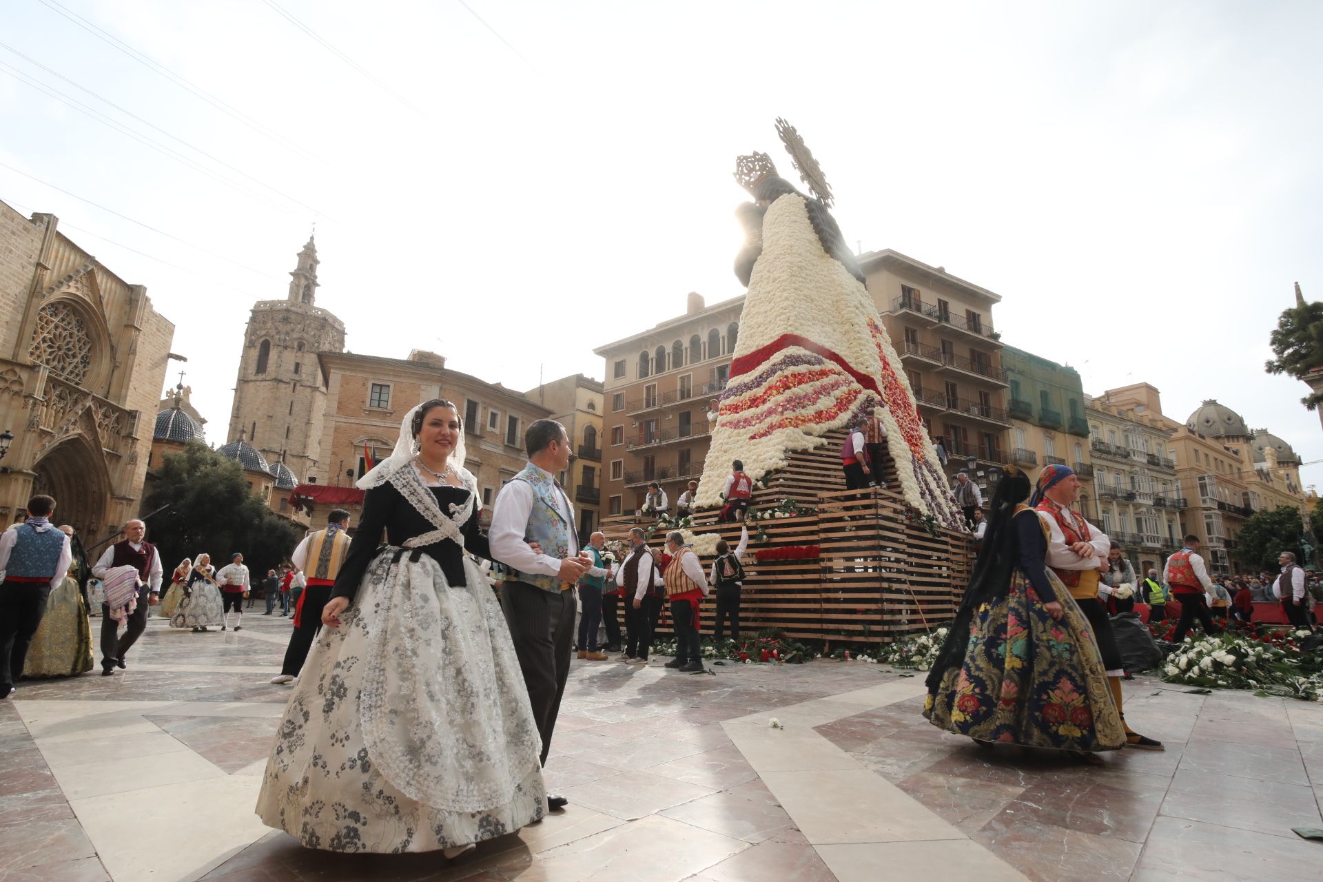
M253 813L288 629L153 620L128 670L0 701L0 881L1323 879L1291 832L1323 826L1323 705L1140 677L1127 718L1168 750L1086 767L941 733L921 677L835 661L576 661L565 812L454 863L308 852Z

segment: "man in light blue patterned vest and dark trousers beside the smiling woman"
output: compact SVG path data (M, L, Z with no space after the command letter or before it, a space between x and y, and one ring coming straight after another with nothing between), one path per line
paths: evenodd
M572 588L593 561L579 551L574 506L556 480L570 464L565 427L554 419L534 421L524 432L524 447L529 463L496 496L487 537L492 559L515 577L501 583L500 602L542 737L545 766L570 673L576 612ZM531 542L542 551L534 551ZM565 803L564 796L546 796L550 809L564 808Z

